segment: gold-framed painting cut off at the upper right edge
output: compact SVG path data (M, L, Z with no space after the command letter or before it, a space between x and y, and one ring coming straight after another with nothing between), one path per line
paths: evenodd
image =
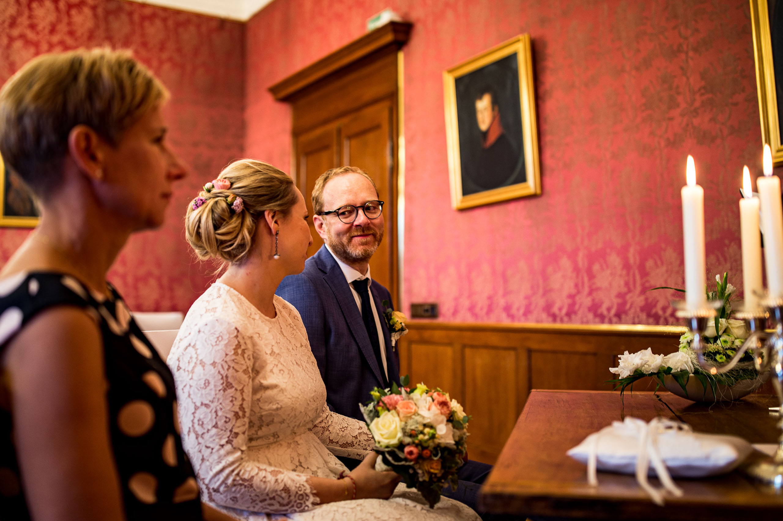
M777 167L783 164L783 122L778 113L778 100L783 99L783 0L750 0L750 19L761 138L770 146Z

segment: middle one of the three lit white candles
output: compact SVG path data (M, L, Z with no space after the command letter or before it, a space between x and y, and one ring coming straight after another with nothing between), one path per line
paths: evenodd
M761 234L759 233L759 199L753 197L748 167L742 169L742 192L739 220L742 230L742 285L745 286L745 311L759 308L761 293Z

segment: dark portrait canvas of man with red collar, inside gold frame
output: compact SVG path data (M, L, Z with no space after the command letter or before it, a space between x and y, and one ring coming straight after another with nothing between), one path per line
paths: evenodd
M462 194L527 181L516 54L455 79Z

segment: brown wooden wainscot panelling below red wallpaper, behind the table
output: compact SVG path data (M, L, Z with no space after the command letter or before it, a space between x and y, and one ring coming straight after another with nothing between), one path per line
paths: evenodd
M611 390L625 350L677 350L684 328L409 322L400 371L440 386L472 415L471 458L493 463L532 389ZM458 377L457 375L461 375ZM448 384L447 384L448 383ZM449 388L448 385L451 385ZM641 390L639 388L638 390Z

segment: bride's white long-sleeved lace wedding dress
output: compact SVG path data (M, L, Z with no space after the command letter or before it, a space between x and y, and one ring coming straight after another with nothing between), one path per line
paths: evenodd
M215 282L190 308L168 365L174 373L182 444L202 498L238 519L477 520L442 498L435 509L400 483L390 500L319 505L309 476L337 478L334 454L363 458L373 446L363 422L327 408L327 390L298 311L275 296L268 318Z

